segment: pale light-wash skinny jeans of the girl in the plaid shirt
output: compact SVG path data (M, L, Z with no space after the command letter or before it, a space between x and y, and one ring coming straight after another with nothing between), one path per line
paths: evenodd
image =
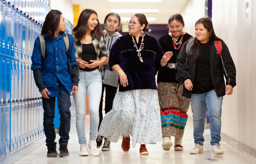
M79 70L78 91L73 94L76 106L76 131L79 144L86 143L85 116L86 116L86 92L89 99L90 114L90 138L95 140L99 126L99 102L101 100L102 79L98 69L94 71Z

